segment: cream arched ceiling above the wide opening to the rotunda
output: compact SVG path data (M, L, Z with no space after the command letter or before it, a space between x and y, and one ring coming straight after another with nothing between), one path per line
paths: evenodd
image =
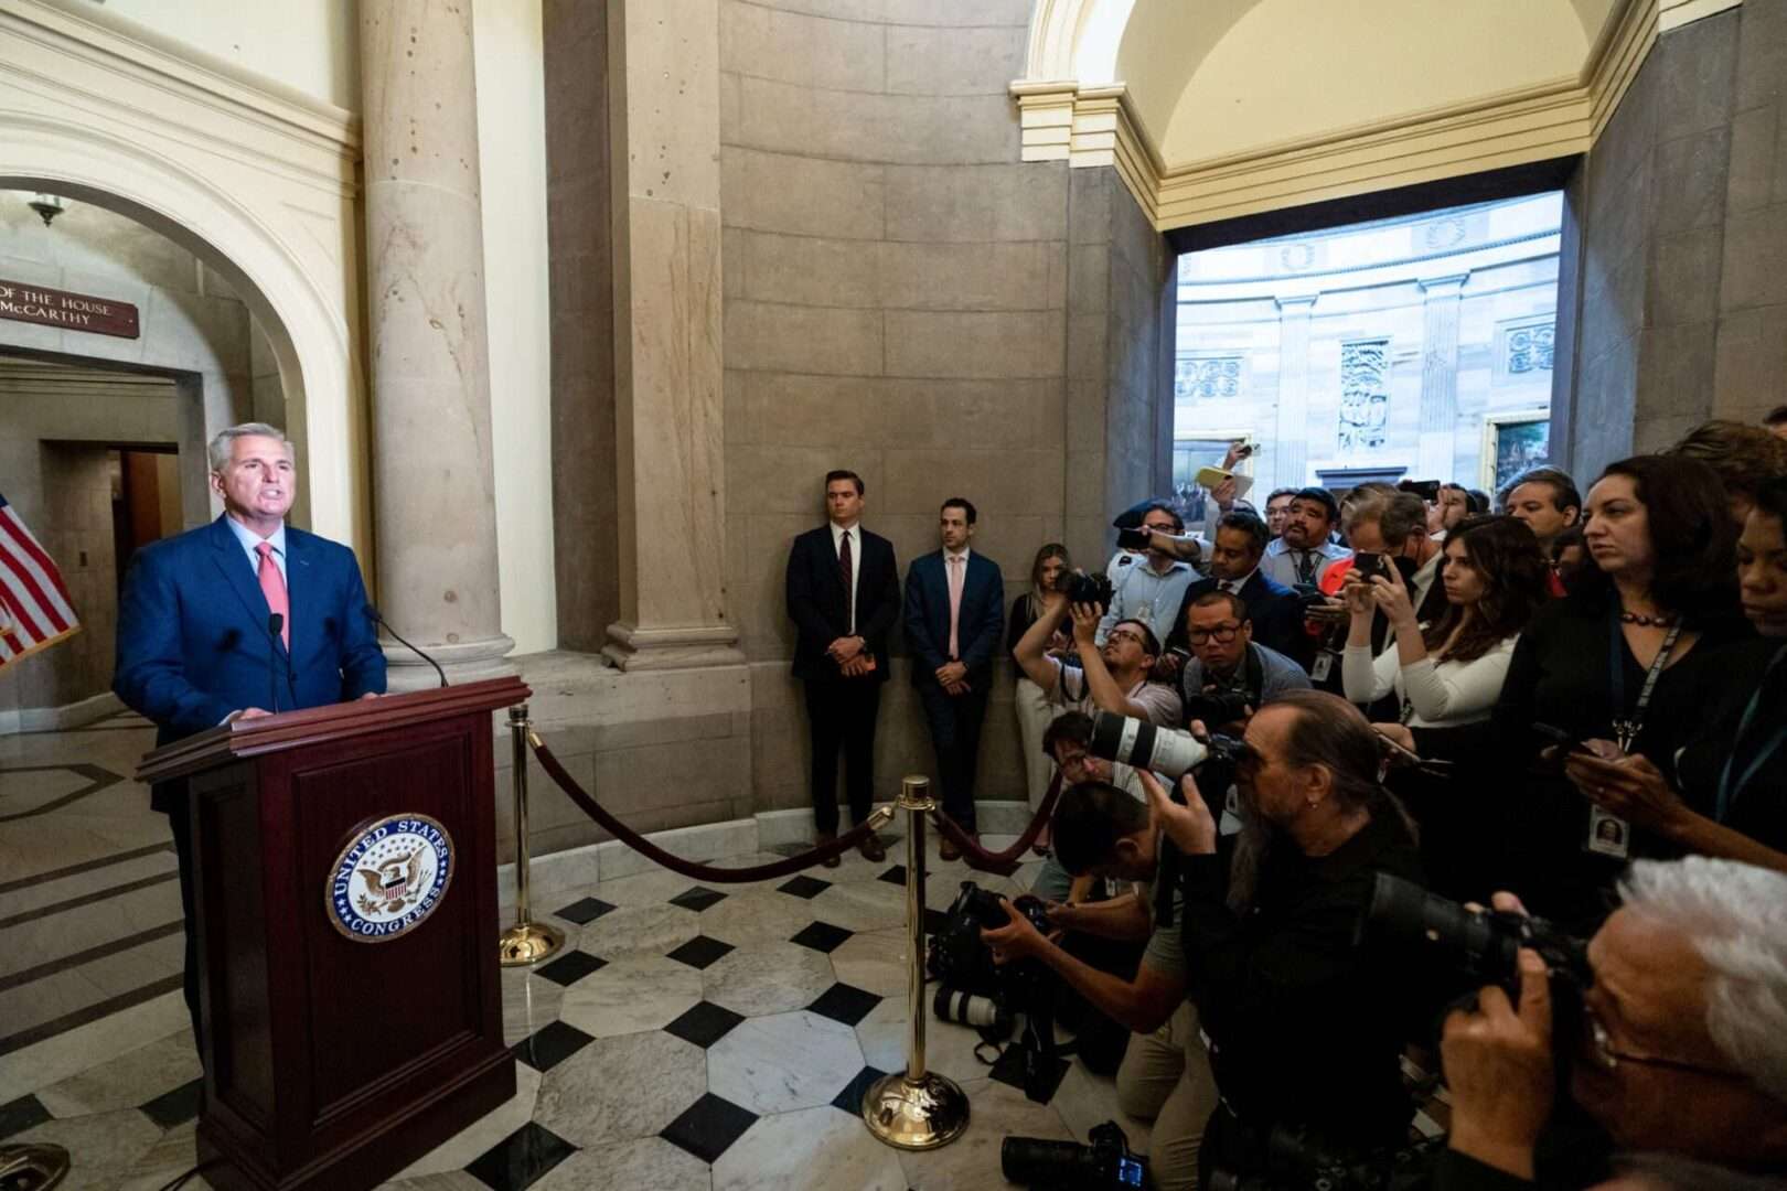
M1112 75L1170 171L1576 82L1615 2L1104 0L1086 16L1122 21Z

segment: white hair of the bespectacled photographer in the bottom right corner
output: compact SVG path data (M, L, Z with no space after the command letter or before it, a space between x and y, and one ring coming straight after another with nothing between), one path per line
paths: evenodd
M1619 893L1626 909L1694 943L1712 968L1707 1032L1787 1104L1787 873L1705 855L1637 861Z

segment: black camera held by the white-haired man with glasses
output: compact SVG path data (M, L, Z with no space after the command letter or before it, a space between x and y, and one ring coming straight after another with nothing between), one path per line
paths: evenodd
M1401 877L1378 873L1358 939L1374 937L1431 955L1435 975L1451 979L1442 996L1465 1000L1485 984L1521 998L1521 948L1539 952L1551 973L1551 1054L1560 1086L1581 1029L1581 995L1594 986L1589 943L1515 911L1471 911Z

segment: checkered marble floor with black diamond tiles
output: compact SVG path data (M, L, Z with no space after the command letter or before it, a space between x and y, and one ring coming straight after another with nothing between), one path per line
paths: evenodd
M1033 866L1010 880L977 875L940 862L935 846L933 912L965 879L1015 893L1033 877ZM974 1054L974 1030L936 1021L927 1066L969 1093L967 1134L927 1154L870 1137L861 1091L906 1064L902 855L904 843L879 864L851 854L835 870L713 887L652 870L545 898L565 950L504 971L516 1096L386 1187L1001 1187L1008 1134L1085 1141L1106 1120L1145 1150L1147 1125L1122 1116L1112 1082L1078 1059L1053 1100L1033 1104ZM195 1161L191 1034L173 1027L145 1041L138 1027L98 1059L0 1104L0 1139L68 1146L71 1191L154 1191Z

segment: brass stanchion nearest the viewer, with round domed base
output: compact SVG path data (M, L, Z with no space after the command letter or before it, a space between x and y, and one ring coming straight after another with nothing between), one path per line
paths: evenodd
M906 939L911 945L906 998L911 1045L904 1075L883 1075L870 1084L863 1096L863 1121L868 1132L890 1146L935 1150L969 1127L969 1096L947 1075L924 1070L924 816L936 807L931 800L931 779L904 779L897 805L906 811Z

